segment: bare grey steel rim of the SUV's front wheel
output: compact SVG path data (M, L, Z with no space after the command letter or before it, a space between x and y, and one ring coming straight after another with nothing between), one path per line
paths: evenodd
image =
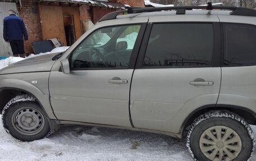
M22 135L36 135L45 124L43 114L32 107L17 109L12 114L11 121L15 130Z

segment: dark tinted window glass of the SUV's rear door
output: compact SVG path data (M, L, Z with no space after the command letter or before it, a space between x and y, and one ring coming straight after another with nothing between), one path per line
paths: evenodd
M211 66L212 24L154 24L143 67Z

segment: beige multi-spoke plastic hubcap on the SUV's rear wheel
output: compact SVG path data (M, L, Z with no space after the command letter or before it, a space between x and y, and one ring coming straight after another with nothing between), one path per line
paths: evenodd
M241 152L240 136L227 126L213 126L200 136L199 146L202 153L210 160L233 160Z

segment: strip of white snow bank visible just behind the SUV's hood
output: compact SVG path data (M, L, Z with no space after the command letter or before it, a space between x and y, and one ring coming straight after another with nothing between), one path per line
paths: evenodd
M8 65L11 65L13 63L22 61L24 59L27 58L32 58L32 57L37 57L37 56L42 56L44 54L51 54L51 53L58 53L58 52L64 52L65 50L67 50L69 47L58 47L58 48L54 48L51 52L47 52L47 53L40 53L40 54L30 54L30 56L26 57L26 58L20 58L20 57L8 57L6 59L2 59L0 60L0 70L4 67L7 67Z

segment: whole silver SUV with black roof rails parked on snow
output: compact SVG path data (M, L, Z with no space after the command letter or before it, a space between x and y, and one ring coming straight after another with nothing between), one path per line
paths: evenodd
M66 52L0 71L3 126L22 141L61 124L186 134L196 160L249 160L255 44L256 11L246 8L109 13Z

